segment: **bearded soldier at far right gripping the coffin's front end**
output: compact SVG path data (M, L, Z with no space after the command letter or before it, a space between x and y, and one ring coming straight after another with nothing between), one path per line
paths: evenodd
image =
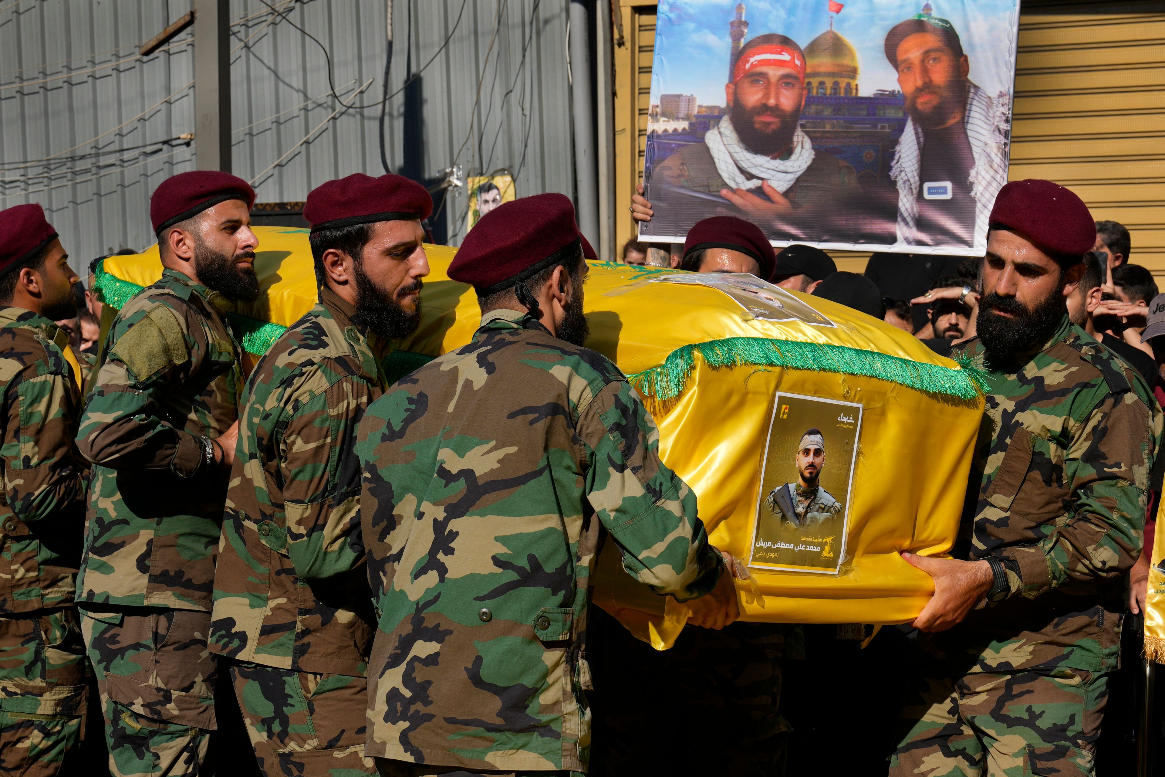
M966 560L904 555L935 592L915 621L927 661L890 772L1092 775L1162 412L1068 320L1095 240L1085 204L1014 182L990 222L979 338L962 346L988 383Z

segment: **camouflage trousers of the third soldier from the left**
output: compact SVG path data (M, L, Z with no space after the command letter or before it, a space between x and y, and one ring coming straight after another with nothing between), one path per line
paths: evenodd
M228 659L223 664L231 672L247 736L266 777L376 774L363 757L365 678Z

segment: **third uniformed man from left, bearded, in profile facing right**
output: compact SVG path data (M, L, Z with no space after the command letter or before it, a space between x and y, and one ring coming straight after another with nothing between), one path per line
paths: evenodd
M230 659L264 775L375 774L363 761L376 628L360 539L356 425L388 382L390 340L419 320L432 199L355 174L310 195L319 304L259 361L214 574L211 650Z

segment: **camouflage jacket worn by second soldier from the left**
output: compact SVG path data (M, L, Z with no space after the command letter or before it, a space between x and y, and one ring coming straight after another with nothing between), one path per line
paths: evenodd
M226 308L167 269L114 319L77 437L93 462L78 601L210 610L227 474L198 438L236 418Z

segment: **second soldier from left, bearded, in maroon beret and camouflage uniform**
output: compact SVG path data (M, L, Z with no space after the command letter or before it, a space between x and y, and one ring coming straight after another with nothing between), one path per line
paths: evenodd
M214 555L241 351L224 317L259 280L254 192L184 172L150 202L162 278L106 339L78 447L93 464L77 581L114 775L195 775L214 723Z

